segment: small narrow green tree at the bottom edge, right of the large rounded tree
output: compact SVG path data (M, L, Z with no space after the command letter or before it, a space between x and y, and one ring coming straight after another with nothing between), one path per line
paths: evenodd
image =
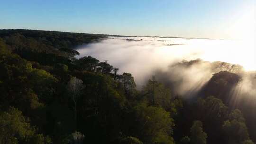
M192 144L206 144L207 134L203 131L202 122L194 121L190 128L190 140Z

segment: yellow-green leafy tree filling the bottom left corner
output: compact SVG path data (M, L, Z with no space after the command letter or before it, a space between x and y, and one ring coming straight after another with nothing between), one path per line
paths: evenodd
M33 126L16 108L10 107L6 112L0 112L0 144L50 144L49 137L36 134Z

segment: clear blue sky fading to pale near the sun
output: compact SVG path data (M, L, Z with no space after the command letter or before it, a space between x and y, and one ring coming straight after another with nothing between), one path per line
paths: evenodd
M255 0L2 0L0 9L0 29L230 38Z

